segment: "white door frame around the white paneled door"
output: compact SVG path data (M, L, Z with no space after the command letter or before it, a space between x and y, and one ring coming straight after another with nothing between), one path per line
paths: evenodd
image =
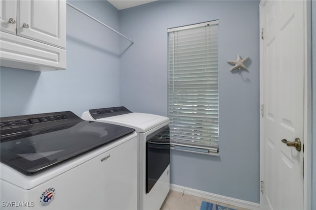
M261 104L263 104L263 69L264 69L264 43L261 39L264 28L264 5L267 0L261 0L259 4L259 81L260 81L260 181L265 180L263 118L261 116ZM304 0L304 181L303 181L303 208L312 209L312 24L311 24L311 0ZM264 110L265 111L265 110ZM261 182L258 183L260 189ZM260 193L260 204L263 193Z

